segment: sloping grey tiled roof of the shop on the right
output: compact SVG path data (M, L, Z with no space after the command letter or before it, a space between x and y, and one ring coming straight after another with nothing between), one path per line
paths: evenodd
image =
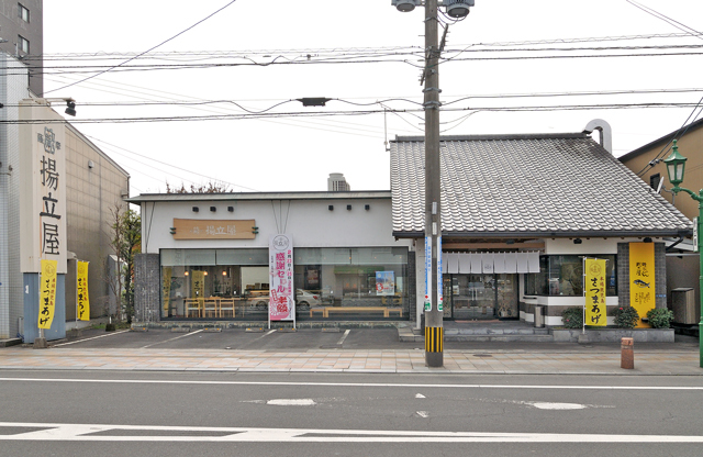
M443 137L445 236L677 235L691 222L585 134ZM424 138L391 142L393 234L424 233Z

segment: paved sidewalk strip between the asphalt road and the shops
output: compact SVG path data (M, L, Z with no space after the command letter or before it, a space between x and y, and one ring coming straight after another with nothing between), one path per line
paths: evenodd
M621 368L620 352L523 349L450 349L444 367L425 366L417 349L298 352L202 349L0 349L0 370L130 370L242 372L369 372L369 374L515 374L515 375L681 375L703 376L699 352L635 349L635 369Z

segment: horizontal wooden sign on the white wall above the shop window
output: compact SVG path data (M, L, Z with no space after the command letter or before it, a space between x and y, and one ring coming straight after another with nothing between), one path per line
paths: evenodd
M237 221L174 219L174 239L254 239L258 227L253 219Z

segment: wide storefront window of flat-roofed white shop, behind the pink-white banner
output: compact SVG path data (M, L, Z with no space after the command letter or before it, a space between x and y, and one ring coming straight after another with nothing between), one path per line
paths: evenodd
M409 317L406 248L293 254L297 319ZM267 320L267 248L161 249L160 258L163 319Z

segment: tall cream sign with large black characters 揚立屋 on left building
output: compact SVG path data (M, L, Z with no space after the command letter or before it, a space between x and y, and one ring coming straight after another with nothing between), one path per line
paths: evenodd
M64 119L37 100L20 103L20 239L22 272L56 260L66 274L66 151ZM49 122L49 121L62 122Z

